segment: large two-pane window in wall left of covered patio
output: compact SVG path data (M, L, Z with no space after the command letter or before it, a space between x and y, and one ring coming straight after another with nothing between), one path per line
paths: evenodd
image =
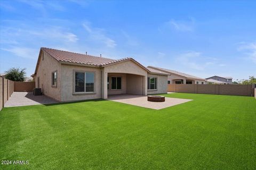
M94 73L75 72L75 92L94 92Z

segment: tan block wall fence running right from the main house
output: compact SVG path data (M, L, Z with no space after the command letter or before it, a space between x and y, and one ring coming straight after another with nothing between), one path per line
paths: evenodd
M168 92L254 96L255 84L168 84Z

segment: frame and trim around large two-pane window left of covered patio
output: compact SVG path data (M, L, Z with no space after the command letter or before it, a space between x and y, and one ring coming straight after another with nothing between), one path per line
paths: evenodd
M84 91L76 92L76 72L84 73ZM86 92L86 73L94 74L93 91ZM96 92L95 92L95 77L96 77L95 71L73 70L73 95L96 94Z

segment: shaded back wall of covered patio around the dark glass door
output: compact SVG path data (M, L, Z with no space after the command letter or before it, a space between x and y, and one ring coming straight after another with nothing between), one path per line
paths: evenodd
M108 73L109 77L109 89L108 95L126 94L126 74L124 73ZM111 90L111 77L121 77L121 89Z

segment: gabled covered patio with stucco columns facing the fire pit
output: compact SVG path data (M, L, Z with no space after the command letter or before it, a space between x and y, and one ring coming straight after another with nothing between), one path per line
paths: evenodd
M148 70L130 59L102 68L102 98L109 95L147 95Z

